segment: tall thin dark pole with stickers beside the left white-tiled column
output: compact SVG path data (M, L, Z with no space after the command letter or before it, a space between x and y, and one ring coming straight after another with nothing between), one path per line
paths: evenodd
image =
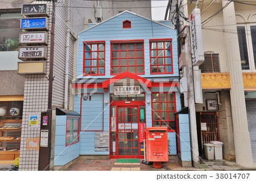
M52 123L52 82L53 82L53 50L54 50L54 29L55 29L55 3L57 0L52 0L52 19L51 19L51 43L49 55L49 75L48 75L48 107L46 112L41 114L40 126L40 142L42 141L42 133L44 138L47 138L48 144L39 148L39 171L49 170L51 163L51 123ZM46 117L47 124L43 124L43 117ZM46 134L48 136L46 136Z

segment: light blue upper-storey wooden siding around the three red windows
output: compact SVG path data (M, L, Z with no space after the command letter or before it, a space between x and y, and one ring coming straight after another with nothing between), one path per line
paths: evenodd
M131 21L131 28L122 28L124 20ZM98 24L79 34L78 39L78 58L77 75L82 74L84 44L83 41L105 41L105 76L101 78L110 78L110 41L111 40L144 40L144 68L145 74L141 77L170 77L178 76L177 64L177 33L171 27L151 22L148 19L125 12L104 23ZM150 39L172 39L172 56L174 74L150 75Z

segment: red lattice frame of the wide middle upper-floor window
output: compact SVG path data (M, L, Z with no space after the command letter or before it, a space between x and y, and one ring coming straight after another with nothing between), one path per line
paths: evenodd
M128 49L128 44L132 44L134 43L135 44L135 49ZM142 49L136 49L136 43L142 43ZM126 71L129 70L129 67L135 67L135 73L136 75L143 75L145 70L144 70L144 40L117 40L117 41L110 41L110 55L111 55L111 58L110 58L110 65L111 65L111 72L110 72L110 75L118 75L118 74L121 74L120 72L120 68L125 68L126 67ZM112 50L112 46L113 44L118 44L118 50ZM120 44L126 44L126 50L120 50ZM136 57L136 51L139 50L139 51L143 51L143 56L142 57ZM129 51L134 51L134 56L135 57L128 57L128 52ZM117 58L113 58L112 57L112 53L113 52L118 52L118 57ZM126 52L126 57L125 58L122 58L120 57L120 52ZM143 65L137 65L137 58L143 58ZM118 65L112 65L112 62L113 62L113 59L116 59L118 60ZM120 60L125 60L126 59L126 65L120 65ZM128 60L129 59L135 59L135 65L129 65L128 64ZM137 73L137 68L138 67L142 67L143 69L143 73ZM113 73L113 68L119 68L119 71L118 73Z

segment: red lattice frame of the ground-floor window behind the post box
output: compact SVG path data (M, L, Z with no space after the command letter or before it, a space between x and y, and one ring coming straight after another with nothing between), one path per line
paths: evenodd
M159 101L154 101L153 102L153 94L159 94ZM166 95L166 101L160 101L160 94L165 94ZM174 101L168 101L168 94L173 94L174 95ZM153 110L153 103L159 103L159 111L154 111ZM161 108L160 108L160 103L167 103L167 111L161 111ZM174 110L172 110L172 111L170 111L170 110L168 110L168 103L174 103L174 107L175 107L175 109ZM175 120L175 116L174 116L174 120L168 120L168 119L162 119L162 117L161 117L161 112L167 112L167 117L169 117L168 116L168 112L176 112L176 94L175 94L175 92L172 92L172 93L170 93L170 92L163 92L163 93L160 93L160 92L152 92L152 94L151 94L151 113L152 113L152 127L154 127L154 121L159 121L160 122L160 127L162 127L162 122L164 121L164 122L170 122L170 121L175 121L175 126L176 126L176 120ZM153 115L154 115L154 112L159 112L159 120L154 120L153 119ZM169 124L168 124L169 125ZM170 129L169 127L167 127L167 131L168 132L176 132L176 129Z

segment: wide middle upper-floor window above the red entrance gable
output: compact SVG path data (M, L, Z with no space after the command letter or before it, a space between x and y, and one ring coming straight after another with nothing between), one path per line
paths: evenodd
M144 74L143 41L136 43L111 44L111 74L121 74L129 71L134 74Z

